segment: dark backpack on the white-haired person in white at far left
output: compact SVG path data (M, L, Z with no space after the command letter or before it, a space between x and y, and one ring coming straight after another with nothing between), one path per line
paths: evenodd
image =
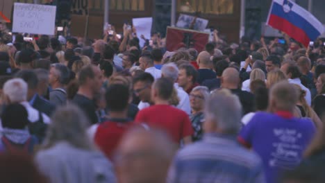
M35 135L35 137L39 139L40 143L42 143L47 131L47 124L43 121L42 112L38 111L38 121L28 123L28 130L30 134Z

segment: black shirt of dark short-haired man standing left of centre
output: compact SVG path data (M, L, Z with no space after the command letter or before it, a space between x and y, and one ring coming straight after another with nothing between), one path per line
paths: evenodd
M83 110L83 112L85 112L91 124L99 122L96 114L96 107L94 105L94 101L81 94L76 94L76 96L74 96L74 99L72 100L72 103L76 104L78 107L81 108L81 110Z

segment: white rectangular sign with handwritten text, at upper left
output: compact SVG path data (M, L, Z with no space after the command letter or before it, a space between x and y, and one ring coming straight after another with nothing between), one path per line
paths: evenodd
M12 32L54 35L56 6L15 3Z

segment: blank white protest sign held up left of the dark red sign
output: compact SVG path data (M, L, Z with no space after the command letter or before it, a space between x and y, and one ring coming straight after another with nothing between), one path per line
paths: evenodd
M135 18L132 19L133 26L137 30L138 37L144 35L148 40L151 39L151 26L152 26L152 17L145 18ZM144 45L145 41L140 39L140 46Z

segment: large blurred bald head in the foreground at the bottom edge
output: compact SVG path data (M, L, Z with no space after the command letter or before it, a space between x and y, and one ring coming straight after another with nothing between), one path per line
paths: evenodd
M166 182L175 153L172 140L156 130L128 132L117 148L119 180L124 183Z

